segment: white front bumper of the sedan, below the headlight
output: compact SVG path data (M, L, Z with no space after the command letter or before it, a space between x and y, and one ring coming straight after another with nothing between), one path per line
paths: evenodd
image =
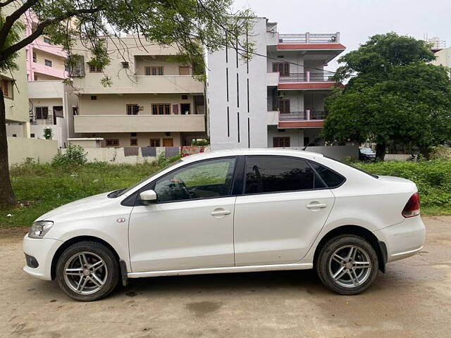
M28 234L26 234L23 237L23 252L35 258L38 266L37 268L31 268L25 265L23 267L25 273L37 277L40 280L51 280L51 260L61 244L63 242L57 239L35 239L28 237Z

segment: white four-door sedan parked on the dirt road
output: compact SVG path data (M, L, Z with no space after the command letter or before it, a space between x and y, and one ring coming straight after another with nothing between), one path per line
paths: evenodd
M183 158L128 189L42 215L24 270L79 301L128 278L314 268L358 294L425 239L416 185L280 149Z

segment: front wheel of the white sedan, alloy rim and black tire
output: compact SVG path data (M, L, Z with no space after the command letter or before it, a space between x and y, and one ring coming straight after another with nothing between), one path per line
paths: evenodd
M79 258L77 261L77 258L75 258L77 255L85 257L85 261L89 264L82 265L82 258ZM98 270L89 268L89 266L92 266L96 262L96 258L99 258L97 260ZM103 265L100 264L101 261L103 261ZM73 268L72 270L80 270L82 273L80 273L80 275L66 275L65 270L68 268L68 264L72 264L69 266L69 268ZM80 265L80 267L78 267L78 265ZM83 268L83 266L87 266L88 268ZM85 273L89 273L89 275L84 275ZM102 283L97 282L97 284L94 284L94 274L96 275L95 277L98 275L100 276ZM56 280L59 286L65 294L76 301L97 301L108 296L118 284L120 275L121 269L116 255L108 246L98 242L85 241L75 243L69 246L68 249L61 254L58 263L56 263ZM78 278L80 278L82 282L85 282L86 280L83 285L86 287L87 291L81 289L81 292L87 294L75 292L73 289L73 287L76 287L78 281L80 281ZM71 285L73 287L71 287ZM90 290L89 287L91 288Z

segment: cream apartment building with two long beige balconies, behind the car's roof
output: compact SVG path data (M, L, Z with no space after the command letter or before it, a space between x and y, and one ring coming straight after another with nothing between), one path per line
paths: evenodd
M89 65L80 53L73 71L79 109L74 128L79 137L101 138L102 146L180 146L206 136L204 83L189 65L174 61L178 49L136 37L109 43L111 63ZM110 85L101 83L108 77Z

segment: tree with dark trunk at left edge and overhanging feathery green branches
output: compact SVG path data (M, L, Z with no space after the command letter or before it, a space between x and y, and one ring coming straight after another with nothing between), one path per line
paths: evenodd
M18 68L17 52L41 35L68 52L68 67L75 65L76 39L92 52L89 64L102 68L109 63L112 37L135 33L140 43L177 45L179 58L202 68L203 46L215 51L223 46L237 48L249 56L252 44L245 33L252 25L249 10L232 13L233 0L0 0L0 72ZM7 10L7 11L6 11ZM32 34L23 36L23 16L33 11L39 23ZM102 83L111 80L104 77ZM0 89L0 207L15 204L8 173L5 104Z

